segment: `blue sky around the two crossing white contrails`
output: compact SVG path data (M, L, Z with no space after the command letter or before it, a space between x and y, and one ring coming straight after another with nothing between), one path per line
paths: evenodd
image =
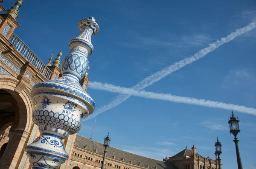
M15 0L5 0L8 9ZM44 62L55 52L62 59L69 41L79 35L79 20L93 16L100 26L92 37L90 82L132 87L147 76L206 48L217 39L256 20L254 0L151 1L55 0L38 4L26 0L17 18L15 34ZM221 45L144 90L220 101L256 108L256 29ZM124 89L125 90L125 89ZM96 110L118 93L88 88ZM233 136L227 124L231 110L131 96L96 116L93 139L103 142L110 132L111 146L162 160L198 147L202 156L215 158L215 141L222 142L223 168L236 168ZM256 169L256 116L239 116L239 148L245 169ZM79 134L90 138L95 118L83 122Z

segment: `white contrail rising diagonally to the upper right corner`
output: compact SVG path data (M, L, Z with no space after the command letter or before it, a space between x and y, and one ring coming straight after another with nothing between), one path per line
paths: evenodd
M160 70L156 73L153 73L152 75L148 76L144 80L140 81L137 85L133 86L132 88L135 90L142 90L145 87L148 87L149 85L152 85L153 83L159 81L160 79L164 78L165 76L179 70L180 68L183 68L184 66L195 62L196 60L204 57L205 55L209 54L210 52L214 51L221 45L230 42L231 40L235 39L236 37L240 36L241 34L246 33L247 31L252 30L253 28L256 28L256 22L252 22L248 24L247 26L243 28L236 29L235 32L232 32L226 37L221 38L221 40L217 40L216 42L210 43L207 48L201 49L200 51L196 52L192 56L189 56L179 62L175 62L174 64L167 66L163 70ZM90 84L90 83L89 83ZM105 112L106 110L109 110L113 107L116 107L118 104L121 104L123 101L128 99L130 96L128 95L119 95L115 99L113 99L109 104L106 104L99 109L96 109L96 111L90 115L86 119L90 119L95 117L96 115L99 115L100 113Z

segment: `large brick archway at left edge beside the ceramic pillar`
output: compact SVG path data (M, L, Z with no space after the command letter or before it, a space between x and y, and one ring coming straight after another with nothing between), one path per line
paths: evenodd
M0 82L3 80L0 79ZM6 142L8 144L5 144L4 151L1 149L0 166L12 164L18 168L25 154L26 140L29 139L33 127L31 115L34 105L27 89L17 93L14 87L9 89L3 89L3 87L0 83L0 134L5 136L0 138L0 146ZM6 134L6 125L10 127L8 134Z

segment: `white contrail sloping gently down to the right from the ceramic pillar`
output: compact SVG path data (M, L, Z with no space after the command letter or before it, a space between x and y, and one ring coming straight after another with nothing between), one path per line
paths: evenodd
M129 96L137 96L143 97L147 99L158 99L164 101L172 101L176 103L186 103L186 104L193 104L193 105L200 105L205 107L214 107L214 108L221 108L225 110L235 110L241 113L247 113L251 115L256 115L256 109L251 107L245 107L235 104L227 104L219 101L209 101L204 99L195 99L190 97L182 97L182 96L175 96L171 94L163 94L163 93L154 93L154 92L147 92L145 90L134 90L132 88L120 87L115 86L107 83L101 82L90 82L89 87L96 90L104 90L113 93L120 93L123 95Z

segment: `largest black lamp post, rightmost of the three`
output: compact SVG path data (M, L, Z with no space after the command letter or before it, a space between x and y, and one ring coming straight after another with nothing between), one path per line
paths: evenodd
M238 148L238 142L239 140L236 138L236 135L240 132L239 130L239 120L238 118L234 117L233 110L232 110L232 116L230 117L228 123L230 124L230 133L234 135L234 143L236 144L236 159L237 159L237 165L238 169L243 169L242 162L241 162L241 157L240 157L240 152Z

